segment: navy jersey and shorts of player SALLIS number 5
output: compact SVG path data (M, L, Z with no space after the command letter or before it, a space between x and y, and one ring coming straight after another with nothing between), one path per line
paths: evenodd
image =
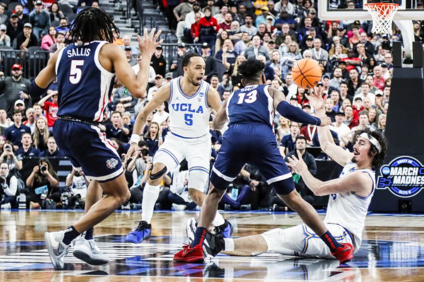
M58 147L74 169L100 182L122 172L120 157L97 124L111 97L115 74L104 69L98 59L106 41L63 48L56 62L58 79L58 119L53 126Z

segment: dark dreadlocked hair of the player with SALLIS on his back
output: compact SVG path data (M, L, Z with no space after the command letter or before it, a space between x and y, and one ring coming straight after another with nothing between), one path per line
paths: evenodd
M114 41L113 29L118 30L112 19L97 8L85 8L78 13L69 31L70 43L82 44L95 40Z

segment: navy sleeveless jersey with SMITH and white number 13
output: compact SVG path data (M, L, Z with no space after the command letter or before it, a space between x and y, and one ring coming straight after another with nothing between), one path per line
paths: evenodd
M273 126L274 102L269 85L249 85L234 91L228 98L229 126L236 123L264 123Z

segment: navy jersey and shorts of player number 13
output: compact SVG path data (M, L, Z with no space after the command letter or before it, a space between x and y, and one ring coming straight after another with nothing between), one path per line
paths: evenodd
M268 88L268 85L249 85L228 98L230 121L210 176L218 189L227 189L245 163L256 165L268 184L292 176L277 146L273 131L274 101ZM288 194L294 184L274 188L279 194Z

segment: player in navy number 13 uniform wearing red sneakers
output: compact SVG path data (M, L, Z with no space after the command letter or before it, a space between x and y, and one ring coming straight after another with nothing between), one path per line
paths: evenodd
M325 114L314 117L288 104L281 91L263 85L266 83L263 69L264 64L255 58L239 65L244 88L231 94L213 121L213 127L219 130L229 120L228 129L223 135L222 147L212 169L212 187L203 201L194 240L190 246L184 246L174 255L175 261L203 261L203 247L213 248L203 244L205 236L215 236L208 233L206 228L215 216L218 203L228 185L237 177L245 163L252 163L259 168L277 195L299 214L307 226L320 235L334 256L341 262L352 258L353 247L337 242L315 209L297 193L290 170L278 150L273 131L275 109L282 116L296 122L326 126L331 120ZM231 246L225 249L231 250Z

